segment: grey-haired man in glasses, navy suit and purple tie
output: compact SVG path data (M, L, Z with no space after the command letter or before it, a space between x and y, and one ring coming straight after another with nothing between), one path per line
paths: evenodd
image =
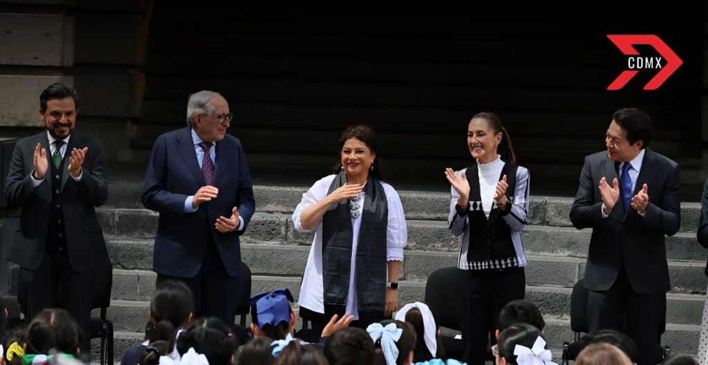
M239 296L239 236L256 209L241 141L226 134L232 117L219 93L190 95L188 126L157 137L142 193L142 204L160 213L157 282L185 282L197 316L230 325Z

